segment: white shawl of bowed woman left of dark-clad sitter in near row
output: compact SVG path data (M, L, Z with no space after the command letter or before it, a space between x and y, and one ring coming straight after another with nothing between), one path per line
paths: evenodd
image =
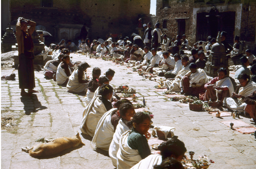
M82 80L85 80L85 75L83 73ZM67 84L68 90L75 92L75 93L81 93L84 92L85 89L88 87L88 83L79 83L78 82L78 68L76 68L73 73L69 76L69 81Z

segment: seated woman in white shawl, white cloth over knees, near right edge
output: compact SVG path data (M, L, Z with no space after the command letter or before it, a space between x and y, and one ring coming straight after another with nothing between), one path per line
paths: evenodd
M250 81L250 76L245 73L240 74L237 79L240 85L236 88L236 91L231 94L232 97L226 97L224 99L223 105L234 111L244 112L246 106L244 98L255 91L256 83Z

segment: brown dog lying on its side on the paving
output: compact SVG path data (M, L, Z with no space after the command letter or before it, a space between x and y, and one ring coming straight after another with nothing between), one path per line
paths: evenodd
M51 140L47 144L36 144L33 147L21 148L22 151L29 152L31 157L40 156L51 156L53 154L60 153L61 151L70 149L72 147L77 147L78 145L85 145L82 143L79 133L73 137L60 137Z

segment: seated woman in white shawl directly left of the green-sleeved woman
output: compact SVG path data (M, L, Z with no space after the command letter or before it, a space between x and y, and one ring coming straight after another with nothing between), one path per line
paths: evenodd
M125 103L126 104L126 103ZM128 122L132 119L132 117L135 115L135 110L132 105L127 105L127 109L125 111L120 112L121 119L119 120L116 131L113 135L113 139L109 146L109 157L112 159L113 165L117 166L117 151L119 150L119 140L121 135L130 130L130 128L127 126Z

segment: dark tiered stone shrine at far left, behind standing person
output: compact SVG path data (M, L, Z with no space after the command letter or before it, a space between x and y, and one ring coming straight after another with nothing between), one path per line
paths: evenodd
M6 28L6 32L2 38L1 45L2 45L2 53L12 51L12 46L17 43L16 36L13 33L13 29L11 28L11 24L9 27Z

